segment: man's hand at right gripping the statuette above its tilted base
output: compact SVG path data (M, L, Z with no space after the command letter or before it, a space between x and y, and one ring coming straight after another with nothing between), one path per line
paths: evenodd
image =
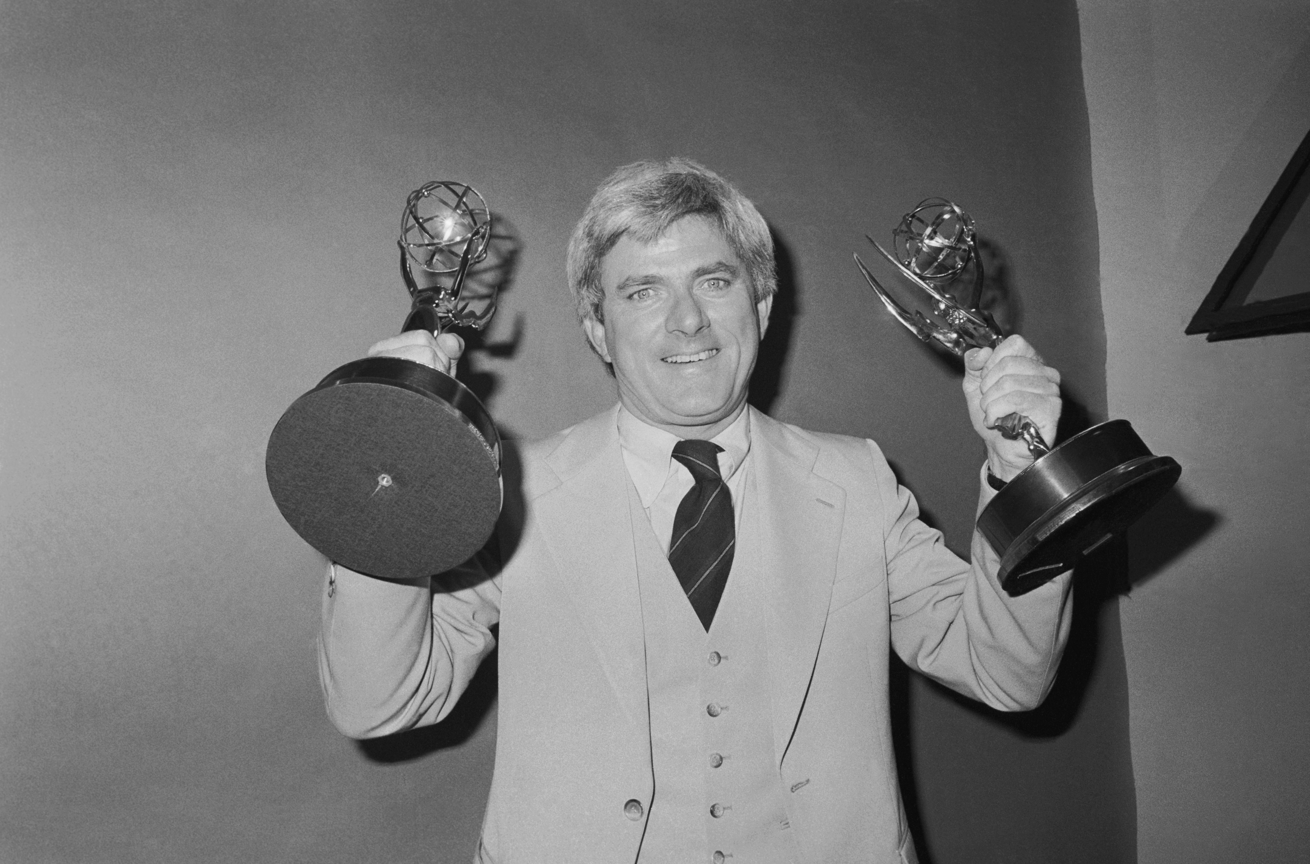
M1027 417L1041 439L1055 446L1062 405L1060 372L1047 366L1022 336L964 355L964 399L973 429L986 444L988 467L998 479L1010 480L1032 464L1022 438L1006 441L992 429L1006 414Z

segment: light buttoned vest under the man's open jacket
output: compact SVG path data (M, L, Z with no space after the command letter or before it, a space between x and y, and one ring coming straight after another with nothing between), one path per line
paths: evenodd
M629 484L655 775L639 864L799 860L773 745L751 477L744 497L732 572L706 633Z

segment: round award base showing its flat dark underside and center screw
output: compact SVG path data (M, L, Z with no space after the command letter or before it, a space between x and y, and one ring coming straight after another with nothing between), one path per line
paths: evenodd
M500 437L449 375L371 357L334 370L269 438L269 489L330 560L390 579L462 564L500 514Z

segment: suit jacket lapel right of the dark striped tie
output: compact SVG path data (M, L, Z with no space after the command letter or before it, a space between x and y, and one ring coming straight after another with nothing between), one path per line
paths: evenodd
M779 763L819 656L846 503L841 486L814 473L817 455L817 446L806 438L752 413L752 506L757 518L749 520L755 536L743 540L761 552L769 604L774 753Z

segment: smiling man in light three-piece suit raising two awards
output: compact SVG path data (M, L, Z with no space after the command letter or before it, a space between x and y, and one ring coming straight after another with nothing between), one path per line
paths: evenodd
M569 282L618 406L524 447L496 565L413 582L333 568L334 722L371 737L439 721L499 621L479 861L913 861L888 646L996 708L1032 708L1069 577L1006 597L986 544L975 535L972 564L947 551L872 442L747 406L773 245L713 172L616 172L574 232ZM461 347L406 333L369 353L453 370ZM1058 374L1018 337L965 366L982 471L1009 480L1031 459L989 426L1019 412L1053 441Z

